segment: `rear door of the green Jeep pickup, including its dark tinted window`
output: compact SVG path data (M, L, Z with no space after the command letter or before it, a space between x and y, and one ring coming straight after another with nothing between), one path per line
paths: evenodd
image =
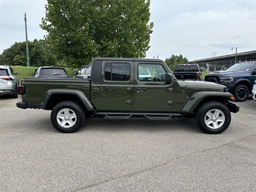
M132 108L133 61L102 61L102 66L101 91L111 106L104 110Z

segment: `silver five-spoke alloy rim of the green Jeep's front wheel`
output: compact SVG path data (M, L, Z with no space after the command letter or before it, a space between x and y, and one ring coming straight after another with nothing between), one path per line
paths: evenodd
M209 128L218 129L224 124L225 115L219 109L211 109L204 116L204 122Z

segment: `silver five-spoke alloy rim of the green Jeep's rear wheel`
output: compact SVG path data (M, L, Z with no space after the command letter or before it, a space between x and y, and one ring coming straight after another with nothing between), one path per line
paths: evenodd
M64 108L57 114L57 122L64 128L70 128L76 123L76 114L73 110Z

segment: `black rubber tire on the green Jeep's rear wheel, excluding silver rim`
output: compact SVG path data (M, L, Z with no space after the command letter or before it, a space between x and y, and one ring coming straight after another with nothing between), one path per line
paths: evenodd
M67 122L67 124L64 124L64 126L70 126L70 127L61 126L57 120L58 112L60 112L64 108L67 108L70 111L72 110L74 112L74 114L76 115L76 119L75 119L76 121L73 122L74 125L70 126L70 124L68 124L68 122ZM84 110L83 110L82 106L80 104L78 104L77 102L74 102L74 101L60 102L52 109L51 122L52 122L52 125L54 126L54 128L56 128L56 130L58 130L59 132L62 132L62 133L76 132L78 129L80 129L83 126L84 121L85 121Z

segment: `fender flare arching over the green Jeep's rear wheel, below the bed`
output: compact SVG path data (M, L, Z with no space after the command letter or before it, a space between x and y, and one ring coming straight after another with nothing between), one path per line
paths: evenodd
M40 108L41 109L45 109L46 106L48 105L49 99L55 95L55 94L69 94L69 95L76 95L78 96L78 98L80 98L81 102L84 104L84 106L86 107L86 109L88 111L92 111L94 110L94 107L92 105L92 103L90 102L90 100L87 98L87 96L78 89L49 89L46 91L46 93L44 94L41 102L40 102Z

